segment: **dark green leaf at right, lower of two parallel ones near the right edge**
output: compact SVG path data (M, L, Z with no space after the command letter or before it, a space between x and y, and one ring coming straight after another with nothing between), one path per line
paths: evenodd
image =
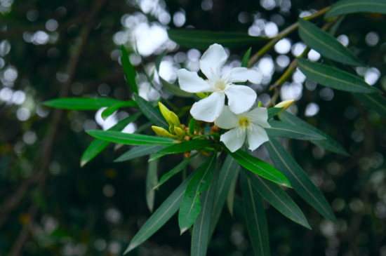
M336 90L345 90L351 93L379 93L379 90L369 86L359 76L330 67L298 58L300 71L314 82Z

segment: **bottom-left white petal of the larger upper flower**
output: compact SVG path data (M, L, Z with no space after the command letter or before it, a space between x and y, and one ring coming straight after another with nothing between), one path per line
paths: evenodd
M215 92L209 95L209 97L194 103L192 109L190 109L190 114L192 114L194 119L210 123L220 116L224 105L224 93Z

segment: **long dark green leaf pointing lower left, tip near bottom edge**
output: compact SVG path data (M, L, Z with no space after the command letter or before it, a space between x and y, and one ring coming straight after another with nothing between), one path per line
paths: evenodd
M147 240L155 232L157 232L164 224L177 212L180 208L182 197L185 194L185 189L190 180L192 180L193 175L189 175L187 179L178 186L173 193L166 198L164 203L159 206L159 208L153 213L152 216L142 225L140 231L133 237L128 248L126 248L124 254L130 252L138 245Z

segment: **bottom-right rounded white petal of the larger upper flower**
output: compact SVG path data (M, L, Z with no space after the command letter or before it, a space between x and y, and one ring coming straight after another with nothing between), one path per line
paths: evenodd
M246 112L258 97L255 91L248 86L229 86L225 94L228 97L229 108L234 114Z

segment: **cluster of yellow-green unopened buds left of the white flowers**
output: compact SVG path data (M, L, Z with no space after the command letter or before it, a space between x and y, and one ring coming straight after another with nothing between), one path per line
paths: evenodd
M164 119L169 124L169 130L167 131L159 126L152 126L154 133L157 133L157 135L163 137L170 137L175 140L182 140L185 137L186 133L185 128L180 123L180 119L178 119L178 116L174 112L171 112L161 102L159 102L158 105L162 116L164 116Z

